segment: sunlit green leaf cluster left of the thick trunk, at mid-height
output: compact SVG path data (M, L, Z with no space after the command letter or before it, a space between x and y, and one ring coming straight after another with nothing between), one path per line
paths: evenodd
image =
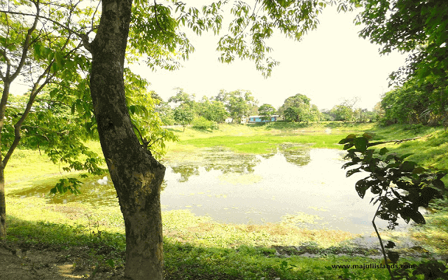
M104 163L97 153L90 151L84 141L94 139L97 134L87 130L87 120L71 114L71 108L62 102L41 94L34 102L33 110L22 123L22 147L43 150L56 165L64 165L66 172L86 170L94 175L104 174L100 167ZM22 117L28 97L11 96L6 107L6 121L3 125L3 145L10 146L15 139L14 124ZM70 190L78 193L80 181L75 178L61 179L53 192Z

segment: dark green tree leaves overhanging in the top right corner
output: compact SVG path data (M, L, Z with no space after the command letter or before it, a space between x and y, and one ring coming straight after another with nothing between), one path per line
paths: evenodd
M360 36L381 45L380 53L410 52L407 66L391 75L398 82L412 76L418 82L437 79L446 86L448 69L448 6L443 0L351 0L364 9L356 24L365 27ZM445 89L446 90L446 89Z

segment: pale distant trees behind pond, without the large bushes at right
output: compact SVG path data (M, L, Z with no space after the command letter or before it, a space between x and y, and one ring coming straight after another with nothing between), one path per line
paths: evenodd
M154 97L155 95L155 97ZM270 120L276 115L285 121L296 123L319 122L323 120L337 120L346 122L373 122L379 118L379 104L374 111L356 108L358 99L344 101L334 106L331 110L319 111L318 107L311 104L309 97L304 94L295 94L288 97L279 109L271 104L258 106L258 101L248 90L234 90L227 92L220 90L214 97L202 97L196 101L195 94L189 94L182 88L176 89L176 94L163 101L153 93L155 99L159 99L155 111L158 112L164 125L193 125L204 130L219 128L227 118L232 123L241 123L244 117L260 116L262 121Z

